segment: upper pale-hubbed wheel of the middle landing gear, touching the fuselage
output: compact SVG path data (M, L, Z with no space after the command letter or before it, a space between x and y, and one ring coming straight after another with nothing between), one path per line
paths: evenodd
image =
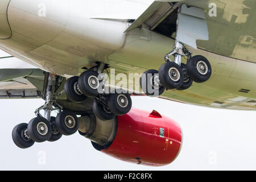
M81 92L88 97L97 97L100 81L98 80L98 73L88 70L82 73L79 77L79 87Z

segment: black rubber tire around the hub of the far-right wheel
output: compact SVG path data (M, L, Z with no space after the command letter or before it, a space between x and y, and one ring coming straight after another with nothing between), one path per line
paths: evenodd
M202 75L197 70L197 63L199 63L199 61L204 61L204 63L207 64L208 72L205 75ZM212 67L210 66L210 63L206 57L197 55L197 56L191 57L187 61L187 72L193 81L197 83L201 83L209 80L210 76L212 75Z

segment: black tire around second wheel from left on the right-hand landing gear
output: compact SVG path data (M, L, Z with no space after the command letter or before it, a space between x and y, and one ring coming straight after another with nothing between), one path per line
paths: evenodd
M174 81L170 78L169 76L169 69L171 68L176 68L177 71L179 71L180 78L177 81ZM177 65L174 62L167 62L164 63L160 68L159 68L159 80L161 84L167 88L167 89L177 89L180 88L180 86L183 84L183 71L180 68L179 65Z

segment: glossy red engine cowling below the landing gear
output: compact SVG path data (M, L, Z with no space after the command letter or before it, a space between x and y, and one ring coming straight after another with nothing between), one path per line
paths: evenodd
M163 129L164 136L160 137ZM118 116L115 139L102 152L126 162L164 166L174 161L181 145L179 124L156 111L150 113L133 108L128 114Z

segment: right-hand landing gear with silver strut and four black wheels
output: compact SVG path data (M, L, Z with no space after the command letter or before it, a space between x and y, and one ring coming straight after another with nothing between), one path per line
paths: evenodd
M174 56L174 61L170 56ZM181 58L187 58L187 64L181 63ZM188 89L192 82L205 82L212 75L212 68L204 56L193 56L183 43L175 42L174 50L164 57L164 63L159 71L149 70L141 76L141 88L148 96L160 96L165 89Z

